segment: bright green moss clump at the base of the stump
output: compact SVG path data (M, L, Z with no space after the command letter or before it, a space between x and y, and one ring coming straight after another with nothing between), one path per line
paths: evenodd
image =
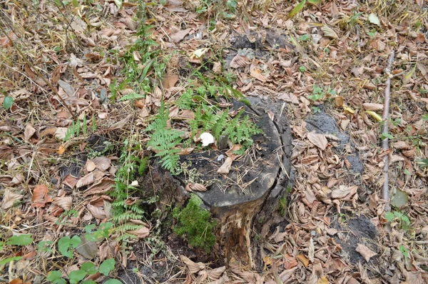
M213 229L217 222L210 218L207 209L200 206L202 203L198 196L192 194L183 210L174 208L173 217L178 220L178 225L173 230L190 245L203 248L209 253L215 244Z

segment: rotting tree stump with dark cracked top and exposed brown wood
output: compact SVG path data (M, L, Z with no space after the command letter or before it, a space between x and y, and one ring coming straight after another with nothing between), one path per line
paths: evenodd
M263 134L253 136L253 148L233 162L230 173L217 173L223 164L218 157L226 156L228 149L190 153L180 161L190 162L188 170L193 169L200 180L214 181L207 191L194 193L218 219L215 235L220 252L215 254L223 255L226 263L236 261L260 269L260 248L252 238L255 234L264 238L271 225L283 220L277 203L285 196L289 183L291 134L282 103L251 97L250 102L251 107L235 102L234 108L244 107L245 114L255 119ZM161 211L166 212L162 207L183 205L189 194L184 189L188 177L172 177L159 166L152 168L148 177L150 180L144 183L146 188L158 191Z

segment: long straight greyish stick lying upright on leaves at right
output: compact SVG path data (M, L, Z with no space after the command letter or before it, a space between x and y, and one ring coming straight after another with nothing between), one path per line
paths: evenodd
M394 61L394 51L391 51L391 55L388 59L387 68L385 69L385 72L387 73L387 86L385 87L384 91L384 111L382 114L382 120L383 120L383 129L382 134L384 136L384 139L382 140L382 149L383 151L388 151L389 145L388 145L388 118L389 118L389 97L391 93L391 69L392 69L392 62ZM388 168L389 168L389 155L384 156L384 168L383 168L383 174L384 174L384 185L382 188L382 199L384 201L387 201L385 204L385 211L389 211L391 208L389 206L389 175L388 175Z

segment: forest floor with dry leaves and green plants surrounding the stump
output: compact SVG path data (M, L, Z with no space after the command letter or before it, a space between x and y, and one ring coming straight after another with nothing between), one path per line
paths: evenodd
M0 282L428 283L424 0L0 10ZM200 149L175 130L206 130L203 101L240 93L282 102L293 136L286 225L254 236L258 271L198 263L137 193L153 151L176 171Z

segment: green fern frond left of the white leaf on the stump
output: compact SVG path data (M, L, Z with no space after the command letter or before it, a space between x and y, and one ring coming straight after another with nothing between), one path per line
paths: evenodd
M176 147L183 140L181 136L184 132L168 128L168 115L169 111L162 103L155 120L146 128L146 132L152 132L147 146L157 152L157 157L161 157L163 168L166 168L171 173L175 173L177 163L180 159L180 156L178 156L180 150Z

